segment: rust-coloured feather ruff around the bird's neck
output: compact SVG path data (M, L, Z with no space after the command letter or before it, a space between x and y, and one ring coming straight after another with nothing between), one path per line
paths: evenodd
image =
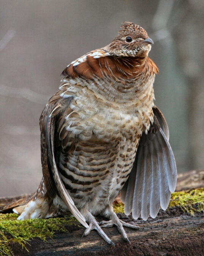
M132 83L137 80L141 72L147 72L151 75L158 73L155 63L149 59L139 59L134 57L105 56L105 51L101 51L104 56L97 57L92 54L86 54L83 58L71 63L63 71L64 76L71 78L82 77L84 79L104 79L113 78L116 82Z

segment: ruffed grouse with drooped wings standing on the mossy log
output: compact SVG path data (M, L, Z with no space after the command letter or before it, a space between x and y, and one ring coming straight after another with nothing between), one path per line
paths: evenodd
M73 214L110 245L104 228L126 223L113 211L155 218L166 210L177 180L169 129L154 104L156 64L146 30L123 22L113 41L72 61L40 117L43 178L36 193L13 211L19 220ZM108 220L97 222L100 215Z

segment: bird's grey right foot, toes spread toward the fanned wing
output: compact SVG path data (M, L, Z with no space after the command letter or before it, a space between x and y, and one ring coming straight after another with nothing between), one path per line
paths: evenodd
M118 218L118 216L116 215L116 213L114 213L114 211L110 207L108 207L106 209L105 216L110 218L110 220L109 221L101 221L99 223L100 227L113 227L115 225L118 228L118 231L120 232L120 234L122 235L122 238L126 242L130 243L129 239L127 238L127 234L126 234L123 227L129 227L131 229L139 229L139 227L131 225L131 224L126 223L124 221L121 221Z

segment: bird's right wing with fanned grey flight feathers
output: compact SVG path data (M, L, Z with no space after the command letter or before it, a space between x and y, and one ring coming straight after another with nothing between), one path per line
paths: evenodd
M143 133L129 179L121 190L124 211L137 219L157 216L159 208L166 210L171 192L176 188L176 162L168 142L166 120L157 107L148 134Z

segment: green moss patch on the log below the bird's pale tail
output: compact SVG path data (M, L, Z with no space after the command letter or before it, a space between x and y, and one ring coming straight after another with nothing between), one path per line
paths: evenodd
M0 255L13 255L11 242L20 244L28 251L27 245L34 237L46 241L46 237L53 238L56 231L67 232L64 225L77 225L79 222L74 217L50 218L50 219L27 219L17 220L14 213L0 214Z

